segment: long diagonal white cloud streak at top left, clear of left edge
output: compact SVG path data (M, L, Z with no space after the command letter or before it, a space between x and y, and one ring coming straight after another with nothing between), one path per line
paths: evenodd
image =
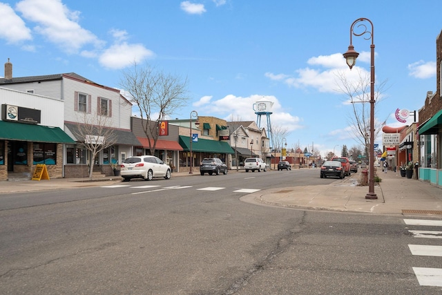
M79 12L68 10L60 0L23 0L16 8L25 19L37 23L36 32L67 53L77 53L87 44L102 46L102 41L77 23Z

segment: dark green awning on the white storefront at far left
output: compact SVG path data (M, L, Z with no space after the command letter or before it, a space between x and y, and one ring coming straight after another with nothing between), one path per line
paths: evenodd
M0 121L0 140L20 140L23 142L55 142L75 144L69 135L59 127L23 124Z

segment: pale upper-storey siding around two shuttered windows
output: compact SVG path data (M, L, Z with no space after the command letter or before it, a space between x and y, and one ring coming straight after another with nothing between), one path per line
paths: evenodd
M107 126L119 129L131 129L131 113L132 106L126 99L123 99L119 91L102 88L94 84L87 84L76 81L74 79L63 79L63 97L65 101L64 118L69 122L94 122L97 115L97 103L99 97L103 97L112 101L112 116L108 120ZM75 111L75 93L84 93L90 95L90 113Z

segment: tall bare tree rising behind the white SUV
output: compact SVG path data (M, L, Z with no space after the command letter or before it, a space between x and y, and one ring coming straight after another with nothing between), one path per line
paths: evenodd
M138 66L136 63L122 75L119 86L140 111L143 131L153 155L160 135L160 123L189 100L186 96L187 79L155 70L148 64Z

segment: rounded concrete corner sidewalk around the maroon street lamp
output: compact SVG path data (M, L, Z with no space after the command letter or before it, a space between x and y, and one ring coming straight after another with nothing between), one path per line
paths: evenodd
M361 173L352 173L343 182L332 184L259 191L244 196L242 200L302 209L442 218L442 189L427 182L401 177L399 171L383 173L382 169L378 169L377 173L382 180L374 187L377 200L365 199L369 187L358 186Z

